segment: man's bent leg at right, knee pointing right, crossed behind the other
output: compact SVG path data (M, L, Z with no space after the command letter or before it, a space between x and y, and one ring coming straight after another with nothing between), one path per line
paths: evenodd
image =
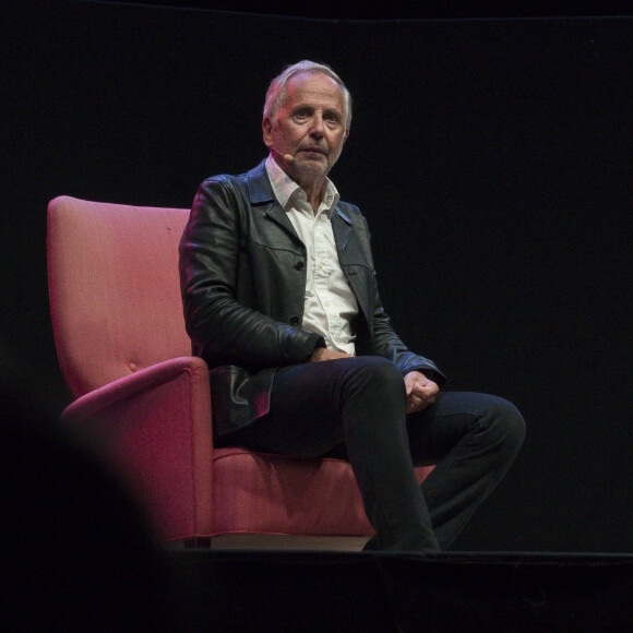
M440 392L408 416L413 461L437 464L422 483L440 548L449 548L501 481L525 437L514 405L495 396Z

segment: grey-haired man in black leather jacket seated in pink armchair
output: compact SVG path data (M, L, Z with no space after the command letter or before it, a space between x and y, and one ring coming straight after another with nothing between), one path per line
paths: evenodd
M205 180L180 244L187 329L211 368L218 446L349 461L371 549L451 546L513 463L525 425L509 402L440 392L379 298L369 231L327 174L351 98L302 61L266 94L265 162ZM418 486L414 466L438 464Z

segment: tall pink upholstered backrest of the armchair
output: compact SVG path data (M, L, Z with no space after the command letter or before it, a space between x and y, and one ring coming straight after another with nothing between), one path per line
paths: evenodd
M55 199L48 284L55 341L75 397L191 355L178 277L189 210Z

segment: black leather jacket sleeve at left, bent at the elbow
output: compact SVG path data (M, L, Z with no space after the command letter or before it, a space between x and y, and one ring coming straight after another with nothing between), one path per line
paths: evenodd
M307 361L318 334L275 321L236 300L243 222L250 203L237 178L206 180L180 241L180 286L194 354L212 367L249 371ZM274 283L274 280L271 280Z

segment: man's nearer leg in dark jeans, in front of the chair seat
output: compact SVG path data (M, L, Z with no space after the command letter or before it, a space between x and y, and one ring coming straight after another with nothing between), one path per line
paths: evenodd
M406 432L404 381L379 357L280 368L270 414L240 431L239 443L321 456L345 442L367 516L381 549L438 551Z

